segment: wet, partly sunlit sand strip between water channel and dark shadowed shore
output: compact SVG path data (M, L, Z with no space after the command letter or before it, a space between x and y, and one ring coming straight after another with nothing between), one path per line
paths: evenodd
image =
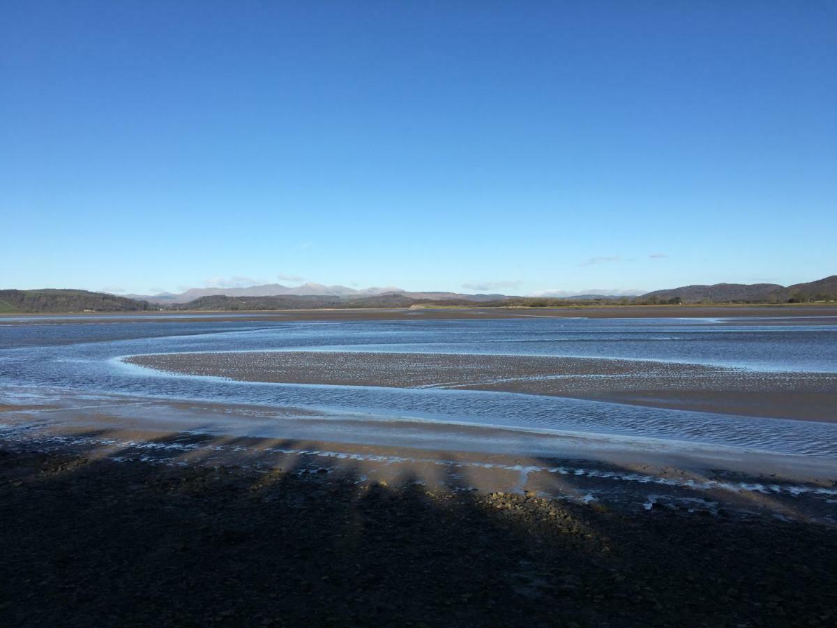
M352 466L369 481L399 481L409 475L428 486L533 491L570 500L592 494L626 507L639 507L650 492L660 498L664 493L716 495L712 499L728 506L743 495L747 507L756 505L756 497L769 496L763 500L769 507L790 498L791 510L806 517L831 520L837 515L827 505L837 499L837 460L823 456L617 435L376 420L290 407L68 395L51 408L33 405L0 412L0 444L178 466L287 467L306 461L314 470ZM567 477L573 480L567 482ZM802 507L806 496L813 501Z

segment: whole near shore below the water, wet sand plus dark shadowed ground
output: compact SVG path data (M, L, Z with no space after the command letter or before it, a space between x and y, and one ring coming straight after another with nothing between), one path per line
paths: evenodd
M0 624L832 625L834 502L807 456L68 391L0 408Z

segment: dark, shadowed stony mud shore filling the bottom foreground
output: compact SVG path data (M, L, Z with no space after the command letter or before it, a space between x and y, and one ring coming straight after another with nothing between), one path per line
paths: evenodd
M0 625L834 625L837 529L0 451Z

